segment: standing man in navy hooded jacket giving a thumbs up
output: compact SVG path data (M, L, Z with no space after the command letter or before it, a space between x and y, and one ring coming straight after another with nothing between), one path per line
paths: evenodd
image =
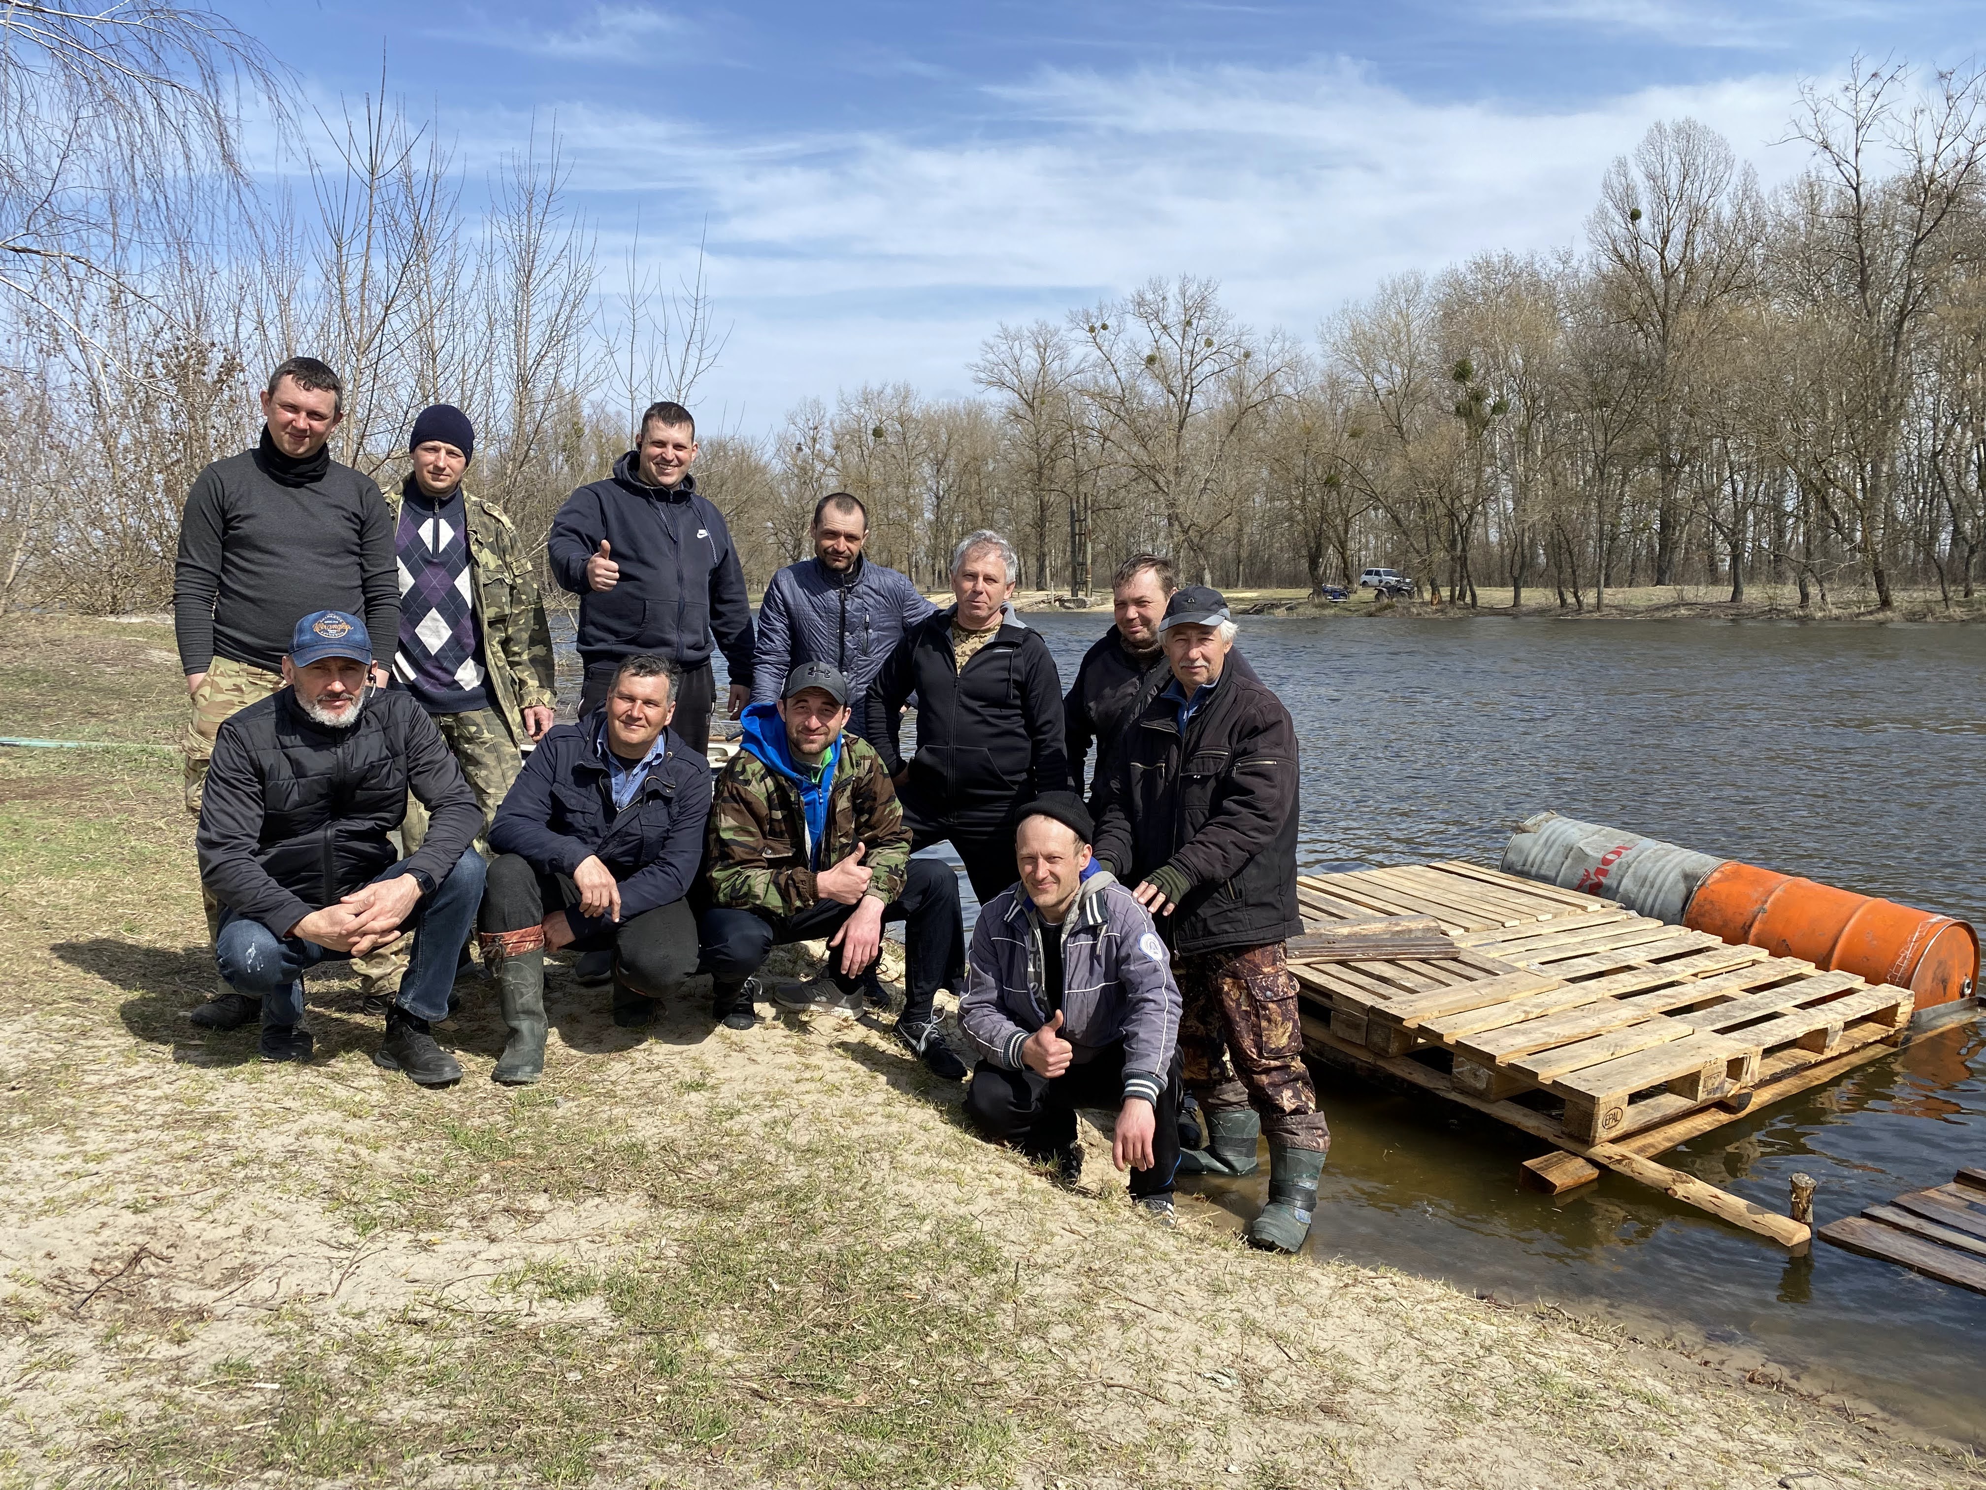
M753 624L731 532L689 475L695 459L689 409L651 403L636 449L610 479L566 499L546 548L560 586L580 596L580 715L606 703L624 658L661 656L681 673L671 729L701 755L717 703L711 634L731 671L735 717L751 701Z

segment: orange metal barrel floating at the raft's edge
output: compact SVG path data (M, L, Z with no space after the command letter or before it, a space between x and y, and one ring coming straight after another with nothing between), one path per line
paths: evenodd
M1918 1009L1970 997L1980 969L1980 940L1962 920L1736 860L1698 886L1682 924L1775 958L1907 987Z

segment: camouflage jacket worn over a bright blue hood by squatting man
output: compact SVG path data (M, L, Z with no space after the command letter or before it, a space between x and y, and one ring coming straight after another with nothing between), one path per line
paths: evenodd
M828 830L820 862L838 864L868 846L870 894L884 904L904 894L910 872L910 828L882 757L860 735L842 735L842 759L828 791ZM717 775L717 795L705 828L703 866L711 902L771 916L792 916L820 900L806 866L806 822L800 793L751 751L739 751Z

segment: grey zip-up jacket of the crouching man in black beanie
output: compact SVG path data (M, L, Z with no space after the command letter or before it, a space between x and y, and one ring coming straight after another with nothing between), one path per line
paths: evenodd
M1003 890L973 928L959 1029L997 1067L1021 1069L1021 1045L1049 1023L1041 938L1063 938L1063 1039L1074 1065L1124 1041L1124 1097L1158 1105L1180 1039L1180 985L1152 916L1108 872L1076 892L1061 926L1047 926L1021 886Z

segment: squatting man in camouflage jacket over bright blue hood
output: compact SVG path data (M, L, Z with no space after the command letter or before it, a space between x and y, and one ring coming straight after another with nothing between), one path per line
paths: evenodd
M703 854L709 910L703 966L715 1013L751 1029L755 973L784 942L828 940L832 993L780 997L792 1007L882 1003L876 954L884 922L904 922L904 1013L898 1039L935 1075L965 1077L931 1001L957 987L965 964L959 882L949 866L910 856L910 828L882 757L848 723L848 679L824 662L786 675L777 703L745 709L743 749L717 777Z

